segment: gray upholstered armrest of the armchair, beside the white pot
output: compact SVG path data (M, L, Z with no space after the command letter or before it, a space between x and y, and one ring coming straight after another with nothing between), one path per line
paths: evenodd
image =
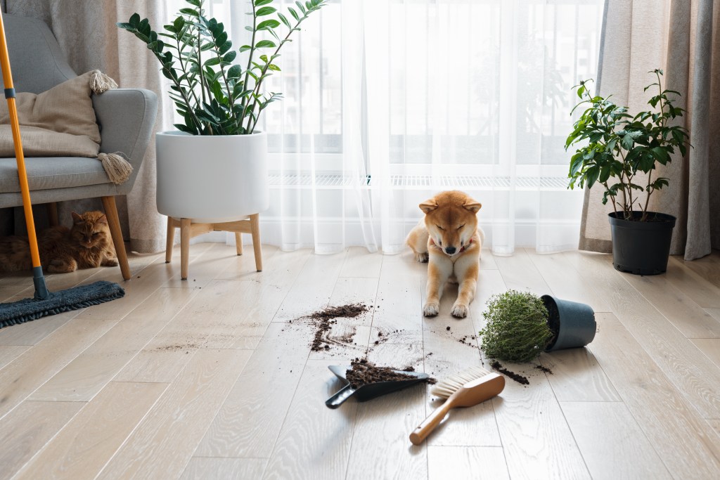
M132 165L130 178L117 186L119 194L127 194L135 184L153 133L158 97L145 89L114 89L93 95L92 102L102 137L100 151L124 153Z

